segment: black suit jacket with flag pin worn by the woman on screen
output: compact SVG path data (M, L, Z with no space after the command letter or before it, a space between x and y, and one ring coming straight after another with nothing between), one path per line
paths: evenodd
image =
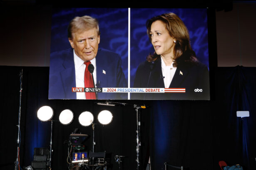
M152 71L150 67L153 67ZM164 88L161 58L158 58L154 64L148 61L140 63L136 71L134 87ZM186 88L186 93L133 93L131 99L210 100L208 68L200 62L179 65L169 88ZM202 92L195 92L195 89L202 89Z

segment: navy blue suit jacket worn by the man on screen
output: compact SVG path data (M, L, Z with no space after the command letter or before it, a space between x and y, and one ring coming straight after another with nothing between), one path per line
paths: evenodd
M121 68L121 58L117 53L98 49L96 69L97 87L127 87ZM76 92L72 92L72 87L76 87L73 49L52 53L48 98L76 99ZM98 92L97 99L127 99L127 93Z

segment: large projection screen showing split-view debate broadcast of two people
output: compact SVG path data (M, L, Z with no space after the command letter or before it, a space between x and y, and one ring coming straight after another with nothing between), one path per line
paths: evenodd
M78 26L73 29L72 39L68 38L70 21L85 15L98 20L100 35L89 37L88 30L92 32L92 29L80 30ZM170 27L167 28L164 21L157 22L158 17L149 27L152 32L148 35L147 20L159 15L167 18ZM188 30L185 39L184 26L177 24L175 16ZM86 93L95 93L93 99L104 100L210 100L207 25L207 9L54 9L49 99L88 99ZM176 32L170 33L173 30ZM80 41L79 36L84 39ZM172 58L174 65L171 66L168 62L163 65L168 49L178 56ZM87 61L89 55L94 58L88 60L94 65L95 88L87 88L84 84L86 66L81 65L81 61ZM153 56L153 62L146 61L149 55Z

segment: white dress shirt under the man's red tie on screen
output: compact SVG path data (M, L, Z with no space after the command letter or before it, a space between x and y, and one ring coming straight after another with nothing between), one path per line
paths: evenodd
M76 87L85 87L85 61L79 58L74 51L74 63L75 63L75 75L76 75ZM96 57L91 60L94 66L93 78L96 86L97 75L96 75ZM77 99L86 99L85 92L77 92Z

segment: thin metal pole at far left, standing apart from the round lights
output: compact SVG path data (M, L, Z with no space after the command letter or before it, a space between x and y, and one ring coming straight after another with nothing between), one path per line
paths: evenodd
M19 150L20 150L20 112L21 112L21 93L22 93L22 75L23 75L23 69L21 69L20 71L20 107L19 107L19 124L17 125L18 126L18 139L17 139L17 158L16 158L16 161L15 161L15 170L18 170L18 166L19 166L19 160L18 160L18 157L19 157Z

